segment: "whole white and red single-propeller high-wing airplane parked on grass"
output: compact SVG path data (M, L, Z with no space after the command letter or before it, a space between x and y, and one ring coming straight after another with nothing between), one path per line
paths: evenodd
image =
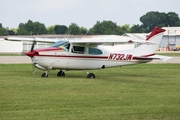
M130 37L82 38L81 40L59 40L43 38L5 38L8 41L32 41L31 50L26 55L33 65L43 70L41 77L48 77L50 70L58 69L57 76L65 76L63 70L84 70L87 78L95 78L87 70L104 69L115 66L147 63L153 59L164 61L170 57L155 55L164 29L154 28L146 40ZM34 49L37 42L55 43L49 48ZM138 44L134 49L114 50L115 44ZM119 45L119 48L121 45Z

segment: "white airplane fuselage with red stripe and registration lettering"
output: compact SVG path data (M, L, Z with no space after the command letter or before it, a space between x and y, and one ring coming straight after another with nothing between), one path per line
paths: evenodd
M75 45L77 46L77 45ZM119 45L119 47L122 45ZM131 65L137 63L149 62L151 60L136 60L132 53L115 52L112 47L84 47L83 53L80 51L53 50L40 51L38 56L32 58L37 66L43 69L62 69L62 70L89 70L100 69L115 66ZM83 47L83 46L81 46ZM91 53L89 48L97 49L101 53ZM107 49L108 48L108 49ZM97 52L97 51L95 51ZM40 67L38 67L40 68ZM40 68L41 69L41 68Z

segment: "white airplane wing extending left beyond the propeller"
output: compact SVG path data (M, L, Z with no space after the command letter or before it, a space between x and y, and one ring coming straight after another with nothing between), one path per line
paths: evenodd
M45 38L21 38L21 37L9 37L5 38L7 41L27 41L27 42L43 42L43 43L55 43L59 39L45 39Z

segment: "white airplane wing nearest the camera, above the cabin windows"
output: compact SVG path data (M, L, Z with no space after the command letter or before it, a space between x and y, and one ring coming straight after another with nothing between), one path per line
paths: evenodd
M141 44L155 44L153 42L145 40L136 40L129 37L121 37L116 39L81 39L81 40L69 40L72 44L81 44L81 45L114 45L114 44L128 44L128 43L141 43Z

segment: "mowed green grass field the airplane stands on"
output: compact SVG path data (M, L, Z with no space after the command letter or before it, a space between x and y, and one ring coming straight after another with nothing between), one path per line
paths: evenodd
M1 120L179 120L180 64L139 64L32 74L31 64L0 64Z

